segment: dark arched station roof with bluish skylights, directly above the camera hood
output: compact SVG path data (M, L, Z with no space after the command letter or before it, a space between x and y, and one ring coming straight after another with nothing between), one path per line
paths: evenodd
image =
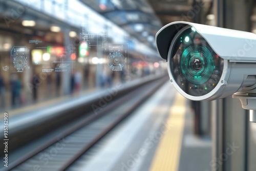
M147 46L155 46L155 35L164 25L184 20L193 10L194 0L80 0L99 14L110 19L131 36ZM212 0L204 1L209 13ZM187 21L192 21L186 18Z

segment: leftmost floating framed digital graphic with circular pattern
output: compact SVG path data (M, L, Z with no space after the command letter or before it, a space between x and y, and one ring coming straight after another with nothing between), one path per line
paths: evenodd
M26 46L14 46L10 51L11 72L27 72L29 69L29 49Z

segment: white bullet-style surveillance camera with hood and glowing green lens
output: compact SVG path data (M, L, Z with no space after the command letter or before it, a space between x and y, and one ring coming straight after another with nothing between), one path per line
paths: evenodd
M158 31L156 45L168 62L170 82L184 97L203 101L236 93L243 108L256 110L256 34L174 22Z

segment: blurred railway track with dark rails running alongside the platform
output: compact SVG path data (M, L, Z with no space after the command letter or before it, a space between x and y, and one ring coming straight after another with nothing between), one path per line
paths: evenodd
M47 143L38 145L3 170L66 170L165 81L165 77L149 81L113 100L110 96L100 98L101 101L91 104L94 108L90 115L73 121Z

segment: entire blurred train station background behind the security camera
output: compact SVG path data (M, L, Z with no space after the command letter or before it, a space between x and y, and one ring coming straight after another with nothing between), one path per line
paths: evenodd
M256 33L256 2L0 0L0 170L255 171L240 101L170 83L155 36L177 21Z

